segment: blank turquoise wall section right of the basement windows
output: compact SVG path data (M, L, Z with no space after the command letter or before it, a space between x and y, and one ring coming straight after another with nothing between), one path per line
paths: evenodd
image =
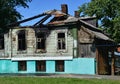
M73 74L95 74L94 58L75 58L65 61L65 72Z

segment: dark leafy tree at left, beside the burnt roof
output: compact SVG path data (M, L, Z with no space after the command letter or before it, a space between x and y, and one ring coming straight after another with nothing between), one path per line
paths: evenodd
M28 8L28 2L31 2L31 0L0 0L0 33L5 33L9 30L8 24L21 19L22 15L16 8Z

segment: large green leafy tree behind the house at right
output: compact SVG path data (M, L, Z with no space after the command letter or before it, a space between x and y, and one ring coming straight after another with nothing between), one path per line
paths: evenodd
M103 28L116 42L120 42L120 0L91 0L79 7L82 16L96 16Z

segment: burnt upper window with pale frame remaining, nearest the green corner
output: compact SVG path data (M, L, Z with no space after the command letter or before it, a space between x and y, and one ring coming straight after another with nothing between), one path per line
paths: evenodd
M58 50L66 49L65 33L58 33Z

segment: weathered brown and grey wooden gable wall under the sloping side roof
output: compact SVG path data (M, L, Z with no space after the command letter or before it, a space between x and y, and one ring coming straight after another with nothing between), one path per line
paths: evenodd
M95 57L94 34L84 26L78 30L78 57Z

